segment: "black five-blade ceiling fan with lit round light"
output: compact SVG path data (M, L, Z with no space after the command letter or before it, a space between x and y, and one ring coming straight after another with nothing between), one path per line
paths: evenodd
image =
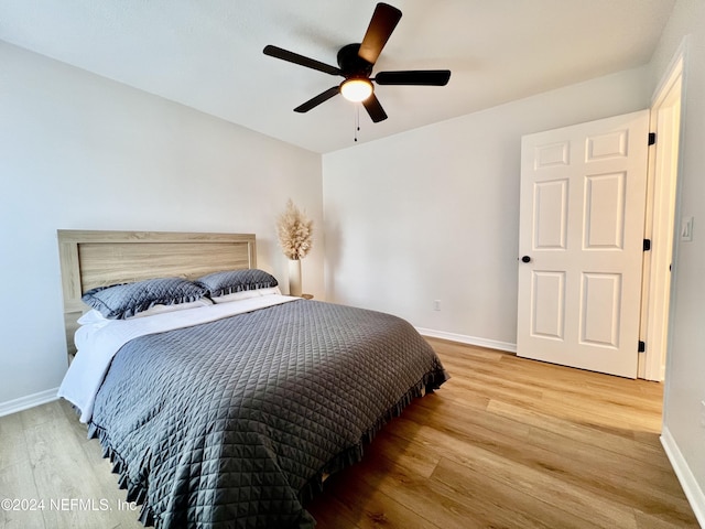
M329 75L339 75L345 80L338 86L328 88L303 105L294 108L295 112L307 112L333 96L341 94L348 100L360 101L373 122L387 119L387 112L375 95L378 85L422 85L445 86L451 78L449 69L409 69L397 72L378 72L375 77L372 67L377 62L384 44L391 36L401 19L401 11L387 3L378 3L372 13L372 20L367 28L361 44L347 44L338 51L338 67L305 57L281 47L268 45L264 54L299 64L307 68L317 69Z

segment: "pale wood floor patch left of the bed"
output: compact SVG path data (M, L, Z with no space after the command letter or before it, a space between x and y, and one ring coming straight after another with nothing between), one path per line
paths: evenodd
M0 418L0 528L143 528L86 432L64 400Z

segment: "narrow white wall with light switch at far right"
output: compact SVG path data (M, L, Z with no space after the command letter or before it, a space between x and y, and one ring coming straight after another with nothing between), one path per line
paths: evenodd
M680 212L694 216L693 241L676 241L664 400L664 440L705 527L705 2L679 0L653 58L655 79L688 36L684 73Z

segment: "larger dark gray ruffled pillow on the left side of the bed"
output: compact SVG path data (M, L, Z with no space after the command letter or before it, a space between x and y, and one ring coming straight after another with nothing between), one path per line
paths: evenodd
M198 301L207 293L203 285L181 278L159 278L135 283L98 287L82 300L109 320L124 320L153 305Z

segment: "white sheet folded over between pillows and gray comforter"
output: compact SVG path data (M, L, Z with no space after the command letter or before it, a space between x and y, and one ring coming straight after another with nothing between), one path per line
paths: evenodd
M230 303L154 314L147 317L116 320L107 325L84 325L76 333L78 352L58 388L58 397L65 398L80 410L80 422L88 422L93 417L96 395L100 389L112 357L130 339L147 334L215 322L224 317L299 299L289 295L270 294Z

